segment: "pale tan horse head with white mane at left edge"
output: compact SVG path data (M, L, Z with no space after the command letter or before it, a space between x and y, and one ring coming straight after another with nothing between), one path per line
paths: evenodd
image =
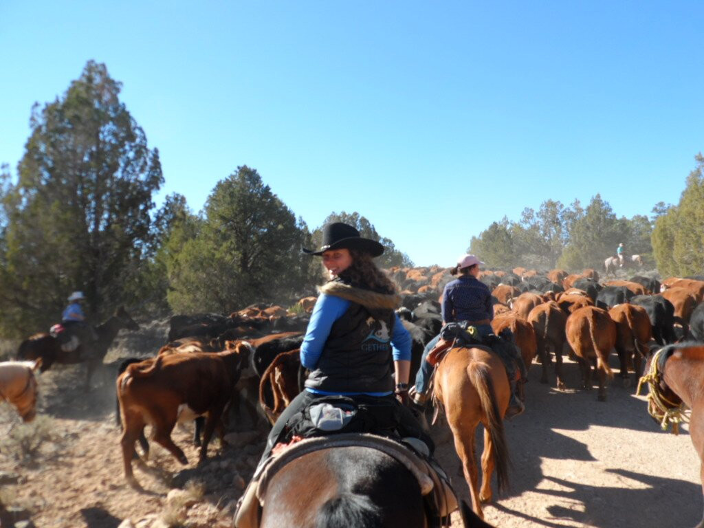
M7 401L17 409L24 422L37 415L37 379L34 372L42 365L36 361L3 361L0 363L0 401Z

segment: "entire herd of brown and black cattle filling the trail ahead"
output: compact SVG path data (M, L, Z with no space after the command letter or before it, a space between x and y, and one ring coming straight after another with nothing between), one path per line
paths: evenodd
M452 277L439 267L392 268L389 275L403 299L398 315L413 338L413 379L423 348L441 329L439 297ZM596 377L600 401L613 375L612 353L624 385L635 386L650 350L704 341L704 277L600 281L595 270L515 268L482 270L479 279L492 292L494 332L511 330L526 365L541 363L541 382L564 389L562 357L570 356L579 364L584 389ZM142 456L149 452L146 425L152 426L151 439L181 463L186 457L170 438L176 422L205 417L204 425L196 421L194 438L201 459L214 432L223 441L227 418L235 413L265 430L301 391L305 372L298 349L314 304L315 297L308 297L292 310L256 305L227 316L177 315L155 357L126 360L116 388L127 481L139 486L132 458L137 440Z

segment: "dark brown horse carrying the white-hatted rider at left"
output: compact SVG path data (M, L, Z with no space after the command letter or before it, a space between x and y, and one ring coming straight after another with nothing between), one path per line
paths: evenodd
M62 365L73 365L75 363L86 362L86 390L90 389L90 379L93 372L103 363L108 348L117 337L121 329L139 330L130 314L125 311L125 308L120 306L111 318L103 322L102 325L95 327L95 332L98 339L91 345L89 350L84 350L84 344L80 344L74 351L65 352L61 350L61 344L58 339L47 334L34 334L32 337L25 339L20 344L17 357L20 360L35 360L42 358L41 371L48 370L54 363Z

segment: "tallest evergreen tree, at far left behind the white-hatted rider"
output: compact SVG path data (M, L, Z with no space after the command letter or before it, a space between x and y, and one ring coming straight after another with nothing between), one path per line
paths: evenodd
M163 177L158 151L120 102L120 86L105 65L89 61L61 98L32 109L18 179L3 174L6 330L55 322L76 289L93 322L134 301L125 285L139 274L152 193Z

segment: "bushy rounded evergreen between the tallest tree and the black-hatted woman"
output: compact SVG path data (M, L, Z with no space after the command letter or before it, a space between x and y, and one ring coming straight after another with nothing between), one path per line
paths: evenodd
M194 236L167 262L168 301L179 312L228 313L255 302L288 303L308 291L303 260L306 227L246 166L208 197ZM168 246L175 250L173 240Z

